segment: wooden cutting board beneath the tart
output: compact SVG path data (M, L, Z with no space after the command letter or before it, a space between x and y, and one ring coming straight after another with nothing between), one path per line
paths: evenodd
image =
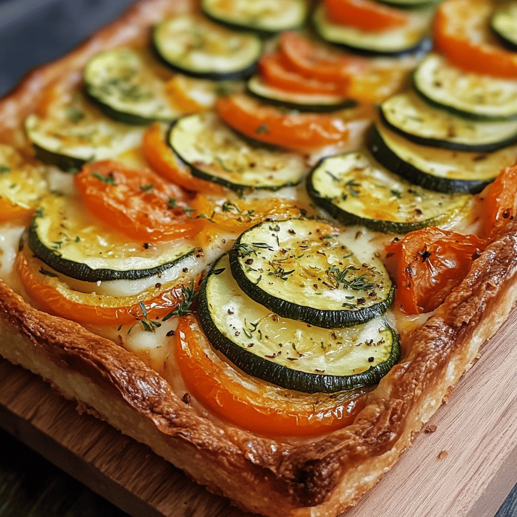
M436 430L346 517L495 515L517 482L516 310L481 354L429 422ZM249 517L3 359L0 426L134 517Z

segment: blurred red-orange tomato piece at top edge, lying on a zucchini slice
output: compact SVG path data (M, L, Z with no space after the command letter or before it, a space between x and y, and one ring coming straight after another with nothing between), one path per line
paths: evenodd
M405 25L409 16L373 0L325 0L330 20L363 31L386 31Z

